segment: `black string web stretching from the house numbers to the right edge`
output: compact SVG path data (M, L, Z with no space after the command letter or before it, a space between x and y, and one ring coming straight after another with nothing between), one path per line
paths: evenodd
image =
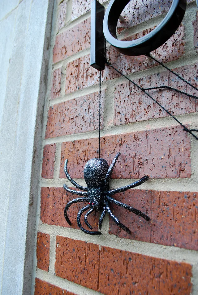
M149 56L151 57L151 56ZM156 59L154 59L154 57L151 57L153 60L155 60L156 62L158 62ZM159 64L161 64L160 62L158 62ZM191 94L185 93L183 91L180 91L178 89L174 89L170 86L159 86L159 87L151 87L151 88L143 88L140 87L138 84L136 84L134 81L132 81L131 79L129 79L127 76L125 76L123 73L121 73L118 69L114 68L114 66L112 66L107 60L106 60L106 64L108 64L111 68L113 68L116 72L118 72L120 75L122 75L123 77L125 77L128 81L130 81L131 83L133 83L137 88L139 88L141 91L143 91L146 95L149 96L149 98L151 98L155 103L158 104L158 106L160 106L163 110L165 110L165 112L167 114L169 114L176 122L178 122L182 127L184 131L189 132L196 140L198 140L198 137L196 135L194 135L192 133L192 131L198 131L198 129L188 129L186 126L184 126L177 118L175 118L168 110L165 109L165 107L163 107L159 102L157 102L156 99L154 99L148 92L146 92L146 90L151 90L151 89L159 89L159 88L168 88L168 89L173 89L179 93L185 94L189 97L193 97L198 99L198 97L196 96L191 96ZM162 66L164 66L163 64L161 64ZM174 73L172 70L170 70L169 68L167 68L166 66L164 66L167 70L169 70L171 73L175 74L177 77L179 77L181 80L183 80L184 82L186 82L188 85L192 86L194 89L198 90L196 87L194 87L193 85L191 85L188 81L186 81L185 79L183 79L182 77L180 77L178 74Z

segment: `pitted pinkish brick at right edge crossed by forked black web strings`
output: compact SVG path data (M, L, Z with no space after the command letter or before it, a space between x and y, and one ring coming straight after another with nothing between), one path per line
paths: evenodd
M197 86L197 64L174 69L187 81ZM140 87L149 88L161 85L171 86L192 95L194 89L178 79L169 71L142 77L135 81ZM198 102L194 98L171 91L170 89L147 90L162 106L173 115L188 114L197 111ZM155 104L148 95L130 82L119 84L114 92L114 125L137 122L153 118L166 117L167 113Z

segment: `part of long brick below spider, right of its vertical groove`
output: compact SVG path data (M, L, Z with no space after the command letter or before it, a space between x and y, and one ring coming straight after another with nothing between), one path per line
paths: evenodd
M100 287L105 294L190 294L191 265L101 247Z

